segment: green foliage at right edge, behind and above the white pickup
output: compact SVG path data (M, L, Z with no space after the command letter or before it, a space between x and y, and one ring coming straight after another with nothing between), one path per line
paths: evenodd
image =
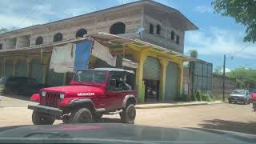
M254 89L256 88L256 70L238 67L235 70L226 74L230 78L235 78L237 85L241 89Z

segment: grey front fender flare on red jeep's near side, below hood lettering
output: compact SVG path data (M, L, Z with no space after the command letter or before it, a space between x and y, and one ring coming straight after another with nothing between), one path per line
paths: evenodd
M92 102L89 98L79 98L73 99L70 101L71 107L86 107L92 110L93 112L96 110L94 106L94 102ZM89 106L89 107L88 107Z

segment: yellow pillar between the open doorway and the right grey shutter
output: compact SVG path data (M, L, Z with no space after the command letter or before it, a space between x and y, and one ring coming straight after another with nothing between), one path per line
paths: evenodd
M160 102L164 102L165 92L166 92L166 66L168 65L168 61L166 59L160 59L160 87L159 87L159 95Z

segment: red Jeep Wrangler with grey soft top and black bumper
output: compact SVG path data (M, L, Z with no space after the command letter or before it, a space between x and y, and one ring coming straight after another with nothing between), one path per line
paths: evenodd
M97 121L103 114L120 114L121 121L134 123L137 102L134 90L134 71L97 68L77 70L70 86L44 88L33 94L34 125Z

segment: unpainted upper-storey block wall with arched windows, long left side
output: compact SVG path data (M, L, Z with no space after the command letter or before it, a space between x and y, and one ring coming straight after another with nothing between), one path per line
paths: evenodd
M6 34L0 38L3 49L14 48L16 43L14 38L18 38L16 47L34 46L35 40L39 36L43 38L43 44L53 42L54 34L62 33L62 40L75 38L75 34L80 29L86 29L87 34L97 32L110 32L110 26L115 22L123 22L126 25L126 34L120 34L128 38L138 38L136 30L141 26L141 6L123 8L119 10L102 11L92 15L84 15L78 18L70 18L59 22L52 22L42 26L32 26L26 30L17 30ZM27 37L27 36L30 37ZM24 40L30 38L30 40ZM22 43L21 43L22 42ZM24 43L27 42L27 43Z

